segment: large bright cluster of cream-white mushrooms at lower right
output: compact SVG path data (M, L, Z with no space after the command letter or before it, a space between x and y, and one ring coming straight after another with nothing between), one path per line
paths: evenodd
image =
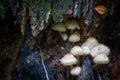
M63 66L72 66L72 68L70 67L70 74L78 76L82 69L80 67L80 58L90 55L93 58L94 64L101 65L110 62L109 54L109 47L99 43L94 37L89 37L81 46L73 46L70 53L62 57L60 62ZM74 68L73 65L75 66Z

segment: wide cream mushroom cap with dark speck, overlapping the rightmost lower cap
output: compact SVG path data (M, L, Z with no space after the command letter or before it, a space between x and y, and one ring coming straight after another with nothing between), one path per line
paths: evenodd
M98 44L91 50L90 55L92 57L95 57L97 54L100 54L100 53L108 56L110 54L110 49L104 44Z

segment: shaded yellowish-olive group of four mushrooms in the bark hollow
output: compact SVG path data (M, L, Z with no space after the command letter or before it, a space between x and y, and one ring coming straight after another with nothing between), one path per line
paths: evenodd
M80 26L74 19L54 23L51 25L51 28L54 31L58 31L64 41L68 40L73 43L80 41Z

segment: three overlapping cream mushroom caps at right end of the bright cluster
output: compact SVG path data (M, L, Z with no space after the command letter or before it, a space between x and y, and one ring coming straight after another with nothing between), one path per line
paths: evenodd
M88 38L81 46L87 46L90 49L90 55L95 64L108 64L110 62L108 57L110 48L99 43L94 37Z

